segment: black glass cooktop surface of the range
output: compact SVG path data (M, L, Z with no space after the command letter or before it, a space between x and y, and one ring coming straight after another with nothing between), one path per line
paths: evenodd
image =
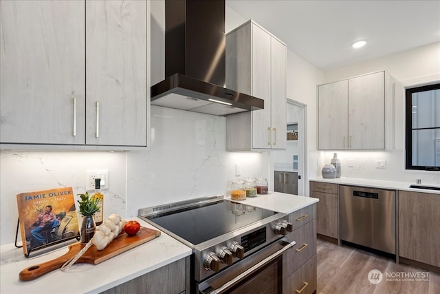
M191 244L197 245L274 216L274 214L277 213L241 202L222 200L202 207L171 211L146 218Z

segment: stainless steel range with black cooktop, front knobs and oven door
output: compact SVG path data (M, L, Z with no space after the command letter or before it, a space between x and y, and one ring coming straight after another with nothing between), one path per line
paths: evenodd
M296 244L286 213L208 196L139 216L192 248L191 293L283 292L283 252Z

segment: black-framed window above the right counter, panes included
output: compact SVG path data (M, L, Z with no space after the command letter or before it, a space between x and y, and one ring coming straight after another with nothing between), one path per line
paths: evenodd
M406 89L406 169L440 171L440 83Z

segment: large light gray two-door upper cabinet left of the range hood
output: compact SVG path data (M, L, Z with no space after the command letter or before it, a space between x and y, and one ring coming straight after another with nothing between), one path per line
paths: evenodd
M0 5L2 145L146 147L146 1Z

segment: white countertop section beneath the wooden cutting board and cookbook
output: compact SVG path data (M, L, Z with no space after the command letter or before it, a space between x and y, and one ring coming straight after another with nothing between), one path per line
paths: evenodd
M144 220L135 218L143 227L156 229ZM0 293L100 293L133 280L191 255L192 249L163 233L129 251L100 264L74 264L67 271L60 269L46 273L35 280L23 282L19 273L28 266L41 264L67 253L67 246L44 255L25 258L23 249L14 244L0 247Z

